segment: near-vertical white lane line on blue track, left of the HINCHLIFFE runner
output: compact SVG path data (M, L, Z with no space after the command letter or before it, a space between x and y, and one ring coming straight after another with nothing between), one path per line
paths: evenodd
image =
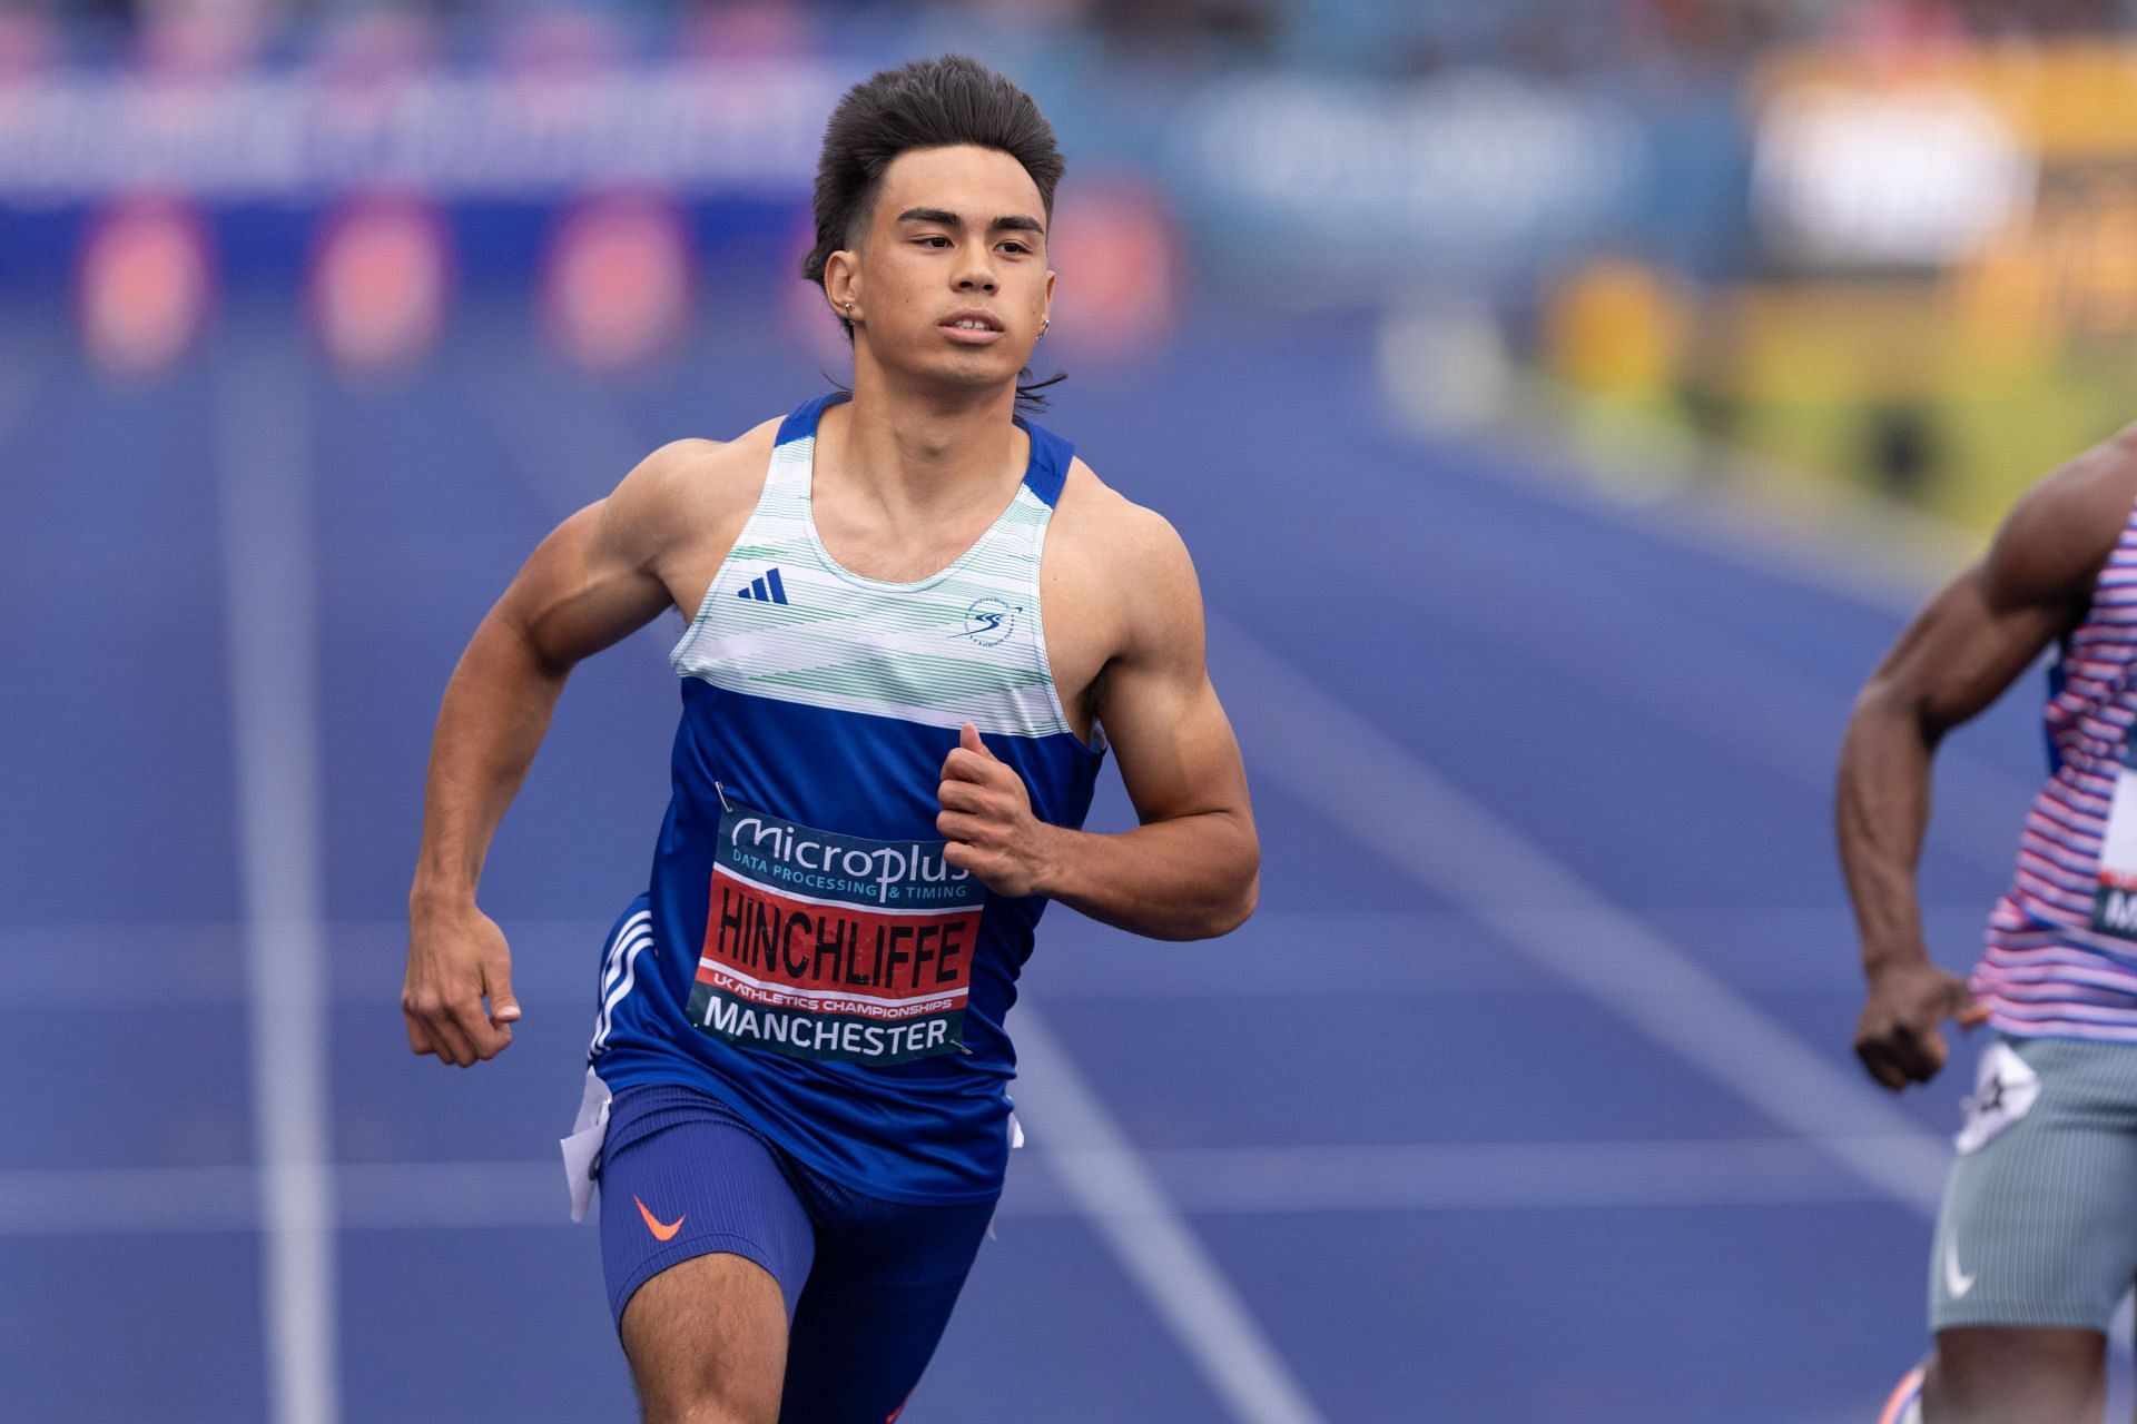
M239 339L218 369L222 576L250 978L252 1110L278 1424L338 1415L327 984L321 920L318 647L303 363Z

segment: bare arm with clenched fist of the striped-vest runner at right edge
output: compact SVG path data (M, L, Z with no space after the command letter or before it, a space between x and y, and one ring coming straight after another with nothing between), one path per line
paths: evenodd
M1979 1023L1966 984L1921 937L1915 867L1930 820L1930 760L1945 732L1994 702L2092 598L2137 495L2128 436L2043 480L1990 553L1915 617L1855 700L1840 747L1840 863L1870 997L1855 1050L1885 1087L1928 1082L1938 1020Z

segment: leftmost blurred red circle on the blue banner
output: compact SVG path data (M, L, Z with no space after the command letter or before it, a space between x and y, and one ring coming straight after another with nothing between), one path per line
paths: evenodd
M77 269L77 312L90 361L154 376L192 348L214 299L207 224L165 196L124 199L94 218Z

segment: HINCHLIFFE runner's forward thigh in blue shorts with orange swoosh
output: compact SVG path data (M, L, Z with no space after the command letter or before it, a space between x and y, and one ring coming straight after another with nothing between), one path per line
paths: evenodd
M600 1260L652 1418L697 1403L769 1420L814 1230L778 1157L714 1097L615 1095L600 1166Z

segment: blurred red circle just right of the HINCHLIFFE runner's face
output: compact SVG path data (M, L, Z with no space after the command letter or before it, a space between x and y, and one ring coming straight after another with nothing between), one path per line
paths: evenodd
M1049 344L1126 357L1171 337L1180 307L1180 228L1171 203L1150 181L1105 175L1062 184L1047 260L1060 273Z

